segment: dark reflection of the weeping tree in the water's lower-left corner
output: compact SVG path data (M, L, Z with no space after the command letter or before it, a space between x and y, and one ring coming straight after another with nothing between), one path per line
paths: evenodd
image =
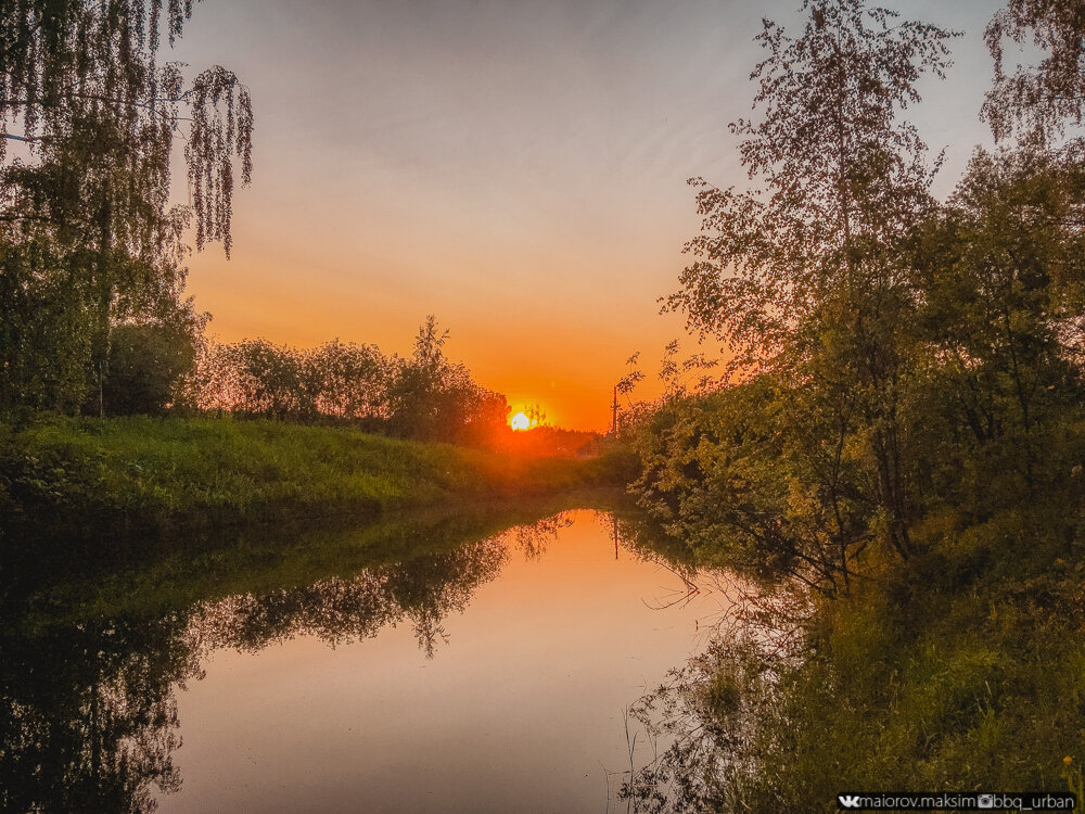
M0 809L144 812L180 788L175 686L186 621L0 634ZM153 787L153 789L152 789Z

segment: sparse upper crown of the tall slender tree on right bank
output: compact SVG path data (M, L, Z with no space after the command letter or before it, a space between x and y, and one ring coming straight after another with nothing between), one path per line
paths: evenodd
M757 39L769 53L752 74L762 115L731 126L745 137L743 165L765 188L690 181L702 230L686 245L695 260L666 304L702 336L726 340L738 367L770 364L842 289L892 282L876 250L927 204L933 170L896 113L918 101L923 72L942 75L950 35L891 25L894 13L861 0L804 8L802 37L765 21Z

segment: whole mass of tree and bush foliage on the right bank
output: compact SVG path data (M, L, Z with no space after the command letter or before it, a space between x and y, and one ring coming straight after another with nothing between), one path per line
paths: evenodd
M982 514L1060 476L1050 445L1082 392L1085 163L1033 130L978 151L935 201L940 161L899 115L952 35L859 0L804 8L799 37L765 23L761 116L733 126L763 187L694 181L702 230L666 303L729 346L728 386L676 391L629 434L641 499L673 530L837 593L870 552L919 552L934 507ZM1014 2L988 38L1029 20L1065 38L1076 18Z

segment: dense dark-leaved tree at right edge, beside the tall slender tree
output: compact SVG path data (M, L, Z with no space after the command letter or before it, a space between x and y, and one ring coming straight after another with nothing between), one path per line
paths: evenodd
M943 421L971 454L999 449L1000 468L1018 470L1025 489L1036 485L1044 427L1080 398L1082 167L1072 151L1035 143L978 150L917 230L917 316Z

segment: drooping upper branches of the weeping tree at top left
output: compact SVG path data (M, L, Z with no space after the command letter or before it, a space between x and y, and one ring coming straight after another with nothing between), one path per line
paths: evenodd
M161 35L173 44L192 7L192 0L0 3L0 163L9 141L22 142L39 166L62 164L69 176L111 187L81 194L107 199L100 208L117 218L112 231L138 233L148 230L136 220L167 217L169 157L180 135L196 246L221 241L229 254L235 178L247 185L252 174L252 101L220 66L187 84L182 65L158 64ZM18 192L12 183L0 179L9 203Z

